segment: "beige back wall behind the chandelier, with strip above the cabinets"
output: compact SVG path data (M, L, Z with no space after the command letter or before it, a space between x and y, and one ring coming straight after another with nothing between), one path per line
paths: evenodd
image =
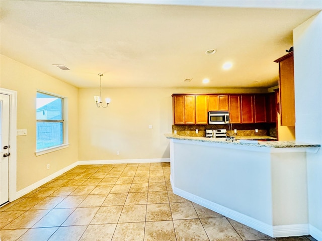
M79 89L79 160L170 158L173 93L248 93L262 89L102 89L108 108L97 108L99 89ZM152 125L153 129L148 129ZM116 155L116 152L119 155Z

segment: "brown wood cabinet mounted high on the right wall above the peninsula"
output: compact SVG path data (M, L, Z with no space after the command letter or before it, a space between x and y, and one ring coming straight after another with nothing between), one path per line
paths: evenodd
M279 63L279 102L281 126L295 126L295 97L294 97L294 59L293 52L275 60Z

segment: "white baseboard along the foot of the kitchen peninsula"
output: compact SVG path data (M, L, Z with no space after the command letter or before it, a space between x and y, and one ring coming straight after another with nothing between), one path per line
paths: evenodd
M309 234L309 226L305 224L296 224L296 225L278 225L273 226L267 223L264 223L260 220L247 216L243 213L239 213L217 203L211 202L204 198L198 197L194 194L181 190L174 187L172 177L170 178L173 192L181 197L184 197L190 201L193 201L197 204L200 204L210 210L218 212L226 217L229 217L237 222L243 223L249 227L252 227L262 233L265 233L271 237L288 237L288 236L301 236ZM318 234L316 234L318 236ZM320 239L318 239L320 240Z

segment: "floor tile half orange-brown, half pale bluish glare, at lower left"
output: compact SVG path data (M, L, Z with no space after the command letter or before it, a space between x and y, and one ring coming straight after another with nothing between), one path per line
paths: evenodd
M28 210L21 216L13 220L11 223L6 225L4 229L21 229L30 228L35 225L43 216L45 216L50 210Z

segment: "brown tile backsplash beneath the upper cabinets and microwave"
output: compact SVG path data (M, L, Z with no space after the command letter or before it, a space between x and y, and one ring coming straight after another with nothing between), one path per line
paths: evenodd
M198 133L196 133L198 129ZM206 130L214 129L226 129L229 134L228 125L172 125L172 133L177 131L179 136L189 137L205 137ZM271 127L269 124L233 124L231 133L233 134L234 129L237 130L237 137L242 136L272 136L276 137L276 128ZM255 132L258 129L258 133Z

